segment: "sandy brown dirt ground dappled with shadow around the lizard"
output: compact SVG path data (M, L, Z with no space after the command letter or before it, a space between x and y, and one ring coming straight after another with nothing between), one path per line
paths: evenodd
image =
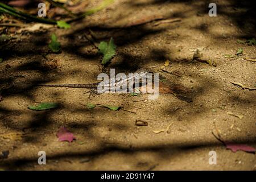
M97 2L94 2L97 3ZM2 47L0 63L0 136L22 133L23 137L0 137L4 170L255 170L254 153L226 150L212 132L234 143L256 147L256 90L242 89L230 81L254 87L255 46L237 39L255 38L253 6L238 1L216 1L217 17L208 15L208 1L115 1L108 8L72 23L68 30L48 28L40 32L10 33L15 39ZM149 16L181 18L179 22L156 20L140 26L129 22ZM90 30L90 31L89 31ZM55 32L62 52L48 53L49 37ZM173 94L100 94L88 98L87 89L42 88L38 84L96 82L102 71L101 55L86 39L93 32L95 43L113 37L117 55L106 67L132 73L138 68L160 68L172 83L191 90L192 102ZM212 67L189 61L199 48L201 60ZM239 48L243 55L236 56ZM234 57L224 57L224 55ZM28 105L57 102L58 109L33 111ZM103 107L86 109L87 103L123 106L125 111ZM228 112L243 115L240 119ZM136 126L135 121L148 126ZM168 131L156 134L154 131ZM67 127L76 137L59 142L56 133ZM46 151L47 165L38 164L38 152ZM210 165L209 151L217 152Z

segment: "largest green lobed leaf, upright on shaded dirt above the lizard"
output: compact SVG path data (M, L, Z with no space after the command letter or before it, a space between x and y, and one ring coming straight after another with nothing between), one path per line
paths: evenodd
M103 58L101 61L102 64L106 64L112 59L112 57L115 55L116 48L117 46L115 46L113 38L109 40L109 43L100 43L98 49L100 50L99 52L103 54Z

